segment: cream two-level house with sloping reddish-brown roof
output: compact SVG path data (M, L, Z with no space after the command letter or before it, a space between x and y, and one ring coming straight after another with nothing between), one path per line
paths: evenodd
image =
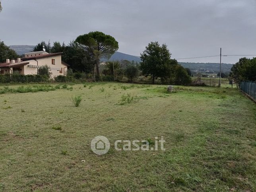
M24 58L17 60L7 58L5 63L0 63L0 74L12 74L15 71L23 75L37 74L39 67L47 65L50 67L52 77L64 75L68 64L61 61L61 54L35 51L25 53Z

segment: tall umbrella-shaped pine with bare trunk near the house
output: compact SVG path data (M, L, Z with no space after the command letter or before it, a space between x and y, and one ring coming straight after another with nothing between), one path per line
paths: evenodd
M100 79L99 60L100 58L110 58L118 50L118 42L114 37L99 31L93 31L76 38L83 48L89 52L96 61L96 78Z

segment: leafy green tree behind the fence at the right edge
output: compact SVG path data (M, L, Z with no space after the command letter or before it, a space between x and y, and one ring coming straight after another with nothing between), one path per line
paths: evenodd
M229 77L238 84L240 81L256 81L256 58L240 58L234 64Z

